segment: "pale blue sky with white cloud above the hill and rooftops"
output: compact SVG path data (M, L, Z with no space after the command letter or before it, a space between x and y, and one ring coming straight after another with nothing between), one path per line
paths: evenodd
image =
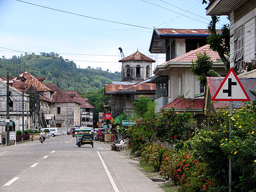
M210 20L210 16L205 15L206 5L202 5L202 0L24 1L140 27L54 11L15 0L0 0L0 56L10 58L25 52L55 52L73 60L78 68L100 67L112 72L120 71L119 47L125 56L138 49L155 59L156 65L165 61L164 54L148 51L154 27L206 29ZM223 16L220 23L227 22Z

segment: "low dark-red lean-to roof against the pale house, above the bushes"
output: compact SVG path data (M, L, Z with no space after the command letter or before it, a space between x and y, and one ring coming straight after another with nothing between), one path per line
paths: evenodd
M173 102L162 106L161 109L202 109L204 99L185 99L184 96L176 98Z

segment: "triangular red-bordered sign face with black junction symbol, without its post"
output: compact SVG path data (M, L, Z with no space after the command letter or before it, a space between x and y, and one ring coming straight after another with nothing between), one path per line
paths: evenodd
M212 101L250 101L233 68L228 71Z

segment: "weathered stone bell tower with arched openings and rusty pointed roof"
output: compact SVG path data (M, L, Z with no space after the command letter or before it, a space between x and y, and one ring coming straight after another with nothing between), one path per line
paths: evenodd
M122 81L139 82L151 77L152 62L156 61L137 50L119 62L122 62Z

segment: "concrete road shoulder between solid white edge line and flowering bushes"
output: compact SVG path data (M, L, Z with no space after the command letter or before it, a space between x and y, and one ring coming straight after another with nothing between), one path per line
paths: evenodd
M134 167L129 159L120 152L100 151L119 191L163 192L163 190Z

